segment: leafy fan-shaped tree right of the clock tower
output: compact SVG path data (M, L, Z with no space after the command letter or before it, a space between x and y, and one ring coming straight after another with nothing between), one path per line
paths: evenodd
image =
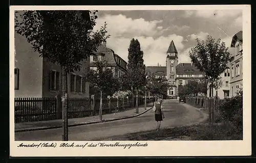
M191 48L189 57L193 64L205 73L207 83L210 85L210 92L212 92L213 88L218 89L216 83L220 80L220 75L228 68L230 53L220 39L215 40L211 36L207 36L206 41L196 40L197 46Z

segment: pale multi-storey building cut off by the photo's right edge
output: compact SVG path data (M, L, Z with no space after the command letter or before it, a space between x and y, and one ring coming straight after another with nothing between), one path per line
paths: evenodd
M237 92L243 88L243 31L238 32L232 37L231 61L229 69L230 75L230 97L236 96Z

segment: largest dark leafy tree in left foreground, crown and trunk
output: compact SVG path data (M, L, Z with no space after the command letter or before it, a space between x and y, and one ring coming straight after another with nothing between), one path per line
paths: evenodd
M16 11L15 31L25 36L32 48L49 62L61 66L63 112L63 140L68 141L68 83L69 73L80 70L84 62L97 50L106 36L106 24L93 32L97 13L90 11L51 10Z

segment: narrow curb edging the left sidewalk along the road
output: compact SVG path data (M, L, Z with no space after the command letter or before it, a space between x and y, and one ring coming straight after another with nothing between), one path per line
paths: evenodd
M144 112L141 112L139 114L133 115L133 116L127 116L127 117L120 117L120 118L115 118L115 119L106 119L102 121L95 121L95 122L83 122L83 123L77 123L77 124L70 124L68 125L69 127L74 127L74 126L82 126L82 125L88 125L88 124L96 124L96 123L104 123L104 122L111 122L111 121L117 121L117 120L122 120L122 119L128 119L128 118L133 118L133 117L138 117L148 111L150 111L153 107L148 108L148 110L145 110ZM46 129L55 129L55 128L62 128L62 126L51 126L51 127L38 127L38 128L27 128L27 129L19 129L15 130L14 132L25 132L25 131L35 131L35 130L46 130Z

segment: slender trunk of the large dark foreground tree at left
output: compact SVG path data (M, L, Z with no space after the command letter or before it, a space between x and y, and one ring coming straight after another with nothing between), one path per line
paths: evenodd
M61 66L62 141L68 141L68 75Z

